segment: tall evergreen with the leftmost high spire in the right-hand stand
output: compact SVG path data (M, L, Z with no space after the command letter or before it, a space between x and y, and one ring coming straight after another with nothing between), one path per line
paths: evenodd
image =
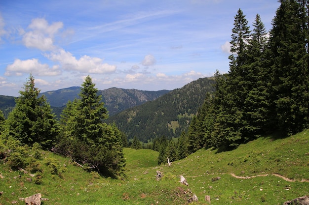
M213 134L218 146L235 147L248 140L252 129L245 118L244 101L250 88L248 76L248 45L250 28L241 9L238 9L232 29L230 71L220 82L215 101L219 100Z

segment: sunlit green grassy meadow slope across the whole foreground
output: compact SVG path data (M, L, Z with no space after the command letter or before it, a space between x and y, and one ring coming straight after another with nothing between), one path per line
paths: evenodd
M197 195L200 205L206 204L205 195L210 195L212 205L281 205L287 200L309 194L309 130L295 136L274 139L259 138L237 149L216 153L216 150L201 149L186 159L156 166L158 153L152 150L126 148L127 178L117 180L97 178L49 152L43 157L56 157L60 166L66 164L63 177L44 171L43 183L36 185L26 180L28 175L13 178L19 173L10 172L0 165L0 204L11 204L20 197L40 192L49 198L43 205L151 205L186 204L185 190ZM163 173L161 181L155 180L155 172ZM235 178L236 176L257 176ZM189 186L179 183L184 174ZM278 174L295 181L286 181ZM263 175L263 176L258 176ZM212 181L220 176L221 179ZM11 186L11 188L10 188ZM193 203L194 204L194 203Z

